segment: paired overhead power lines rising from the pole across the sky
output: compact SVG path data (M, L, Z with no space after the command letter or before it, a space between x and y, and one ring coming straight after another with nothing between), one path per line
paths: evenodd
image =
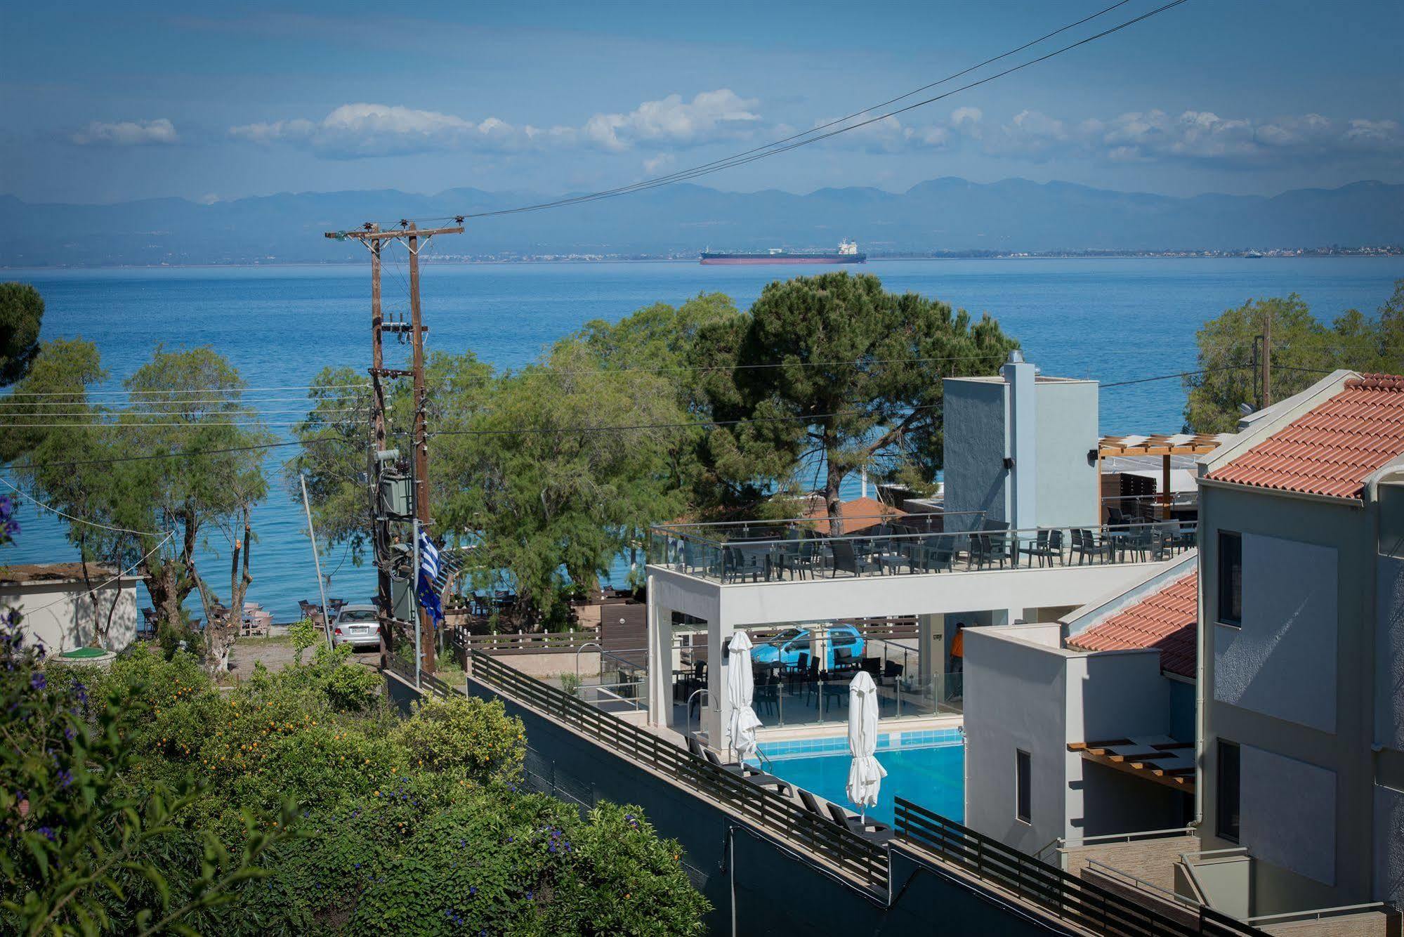
M709 176L712 173L722 171L724 169L734 169L737 166L744 166L747 163L753 163L755 160L765 159L768 156L775 156L778 153L785 153L785 152L789 152L792 149L797 149L800 146L807 146L810 143L817 143L820 140L828 139L830 136L837 136L838 133L847 133L849 131L855 131L855 129L859 129L862 126L868 126L869 124L876 124L878 121L885 121L885 119L887 119L890 117L896 117L897 114L904 114L904 112L915 110L918 107L925 107L927 104L932 104L935 101L941 101L941 100L948 98L948 97L951 97L953 94L959 94L960 91L967 91L967 90L970 90L973 87L979 87L979 86L986 84L988 81L994 81L995 79L1001 79L1001 77L1004 77L1007 74L1012 74L1014 72L1019 72L1019 70L1026 69L1029 66L1039 65L1039 63L1046 62L1046 60L1049 60L1052 58L1056 58L1059 55L1070 52L1070 51L1073 51L1073 49L1075 49L1078 46L1087 45L1090 42L1095 42L1097 39L1101 39L1101 38L1105 38L1108 35L1112 35L1113 32L1119 32L1119 31L1122 31L1122 30L1125 30L1127 27L1132 27L1132 25L1143 21L1143 20L1148 20L1150 17L1154 17L1157 14L1161 14L1161 13L1167 11L1167 10L1178 7L1179 4L1185 3L1185 1L1186 0L1171 0L1170 3L1163 4L1160 7L1155 7L1154 10L1150 10L1148 13L1143 13L1139 17L1134 17L1132 20L1126 20L1125 22L1120 22L1120 24L1118 24L1115 27L1111 27L1108 30L1102 30L1101 32L1097 32L1097 34L1092 34L1092 35L1085 37L1082 39L1078 39L1077 42L1071 42L1071 44L1068 44L1066 46L1054 49L1053 52L1047 52L1047 53L1045 53L1042 56L1038 56L1035 59L1029 59L1028 62L1021 62L1019 65L1015 65L1015 66L1011 66L1008 69L1004 69L1002 72L997 72L994 74L986 76L986 77L979 79L976 81L970 81L969 84L963 84L963 86L960 86L958 89L951 90L951 91L945 91L942 94L932 96L929 98L917 101L914 104L907 104L904 107L894 108L894 110L887 111L885 114L879 114L878 117L872 117L872 118L868 118L865 121L859 121L858 124L849 124L847 126L841 126L838 129L828 131L828 132L820 133L817 136L810 136L810 133L814 133L814 131L807 131L806 133L797 133L797 135L793 135L793 136L789 136L789 138L785 138L785 139L781 139L781 140L775 140L774 143L769 143L767 146L761 146L761 148L755 148L755 149L751 149L751 150L746 150L743 153L737 153L734 156L730 156L730 157L726 157L726 159L722 159L722 160L713 160L712 163L702 163L701 166L694 166L691 169L678 170L677 173L670 173L667 176L660 176L660 177L643 180L640 183L633 183L630 185L621 185L618 188L604 190L604 191L598 191L598 192L590 192L590 194L585 194L585 195L573 195L573 197L567 197L567 198L557 198L557 199L553 199L553 201L549 201L549 202L538 202L535 205L521 205L518 208L503 208L503 209L487 211L487 212L466 212L462 216L453 215L452 218L493 218L493 216L497 216L497 215L515 215L515 214L519 214L519 212L534 212L534 211L542 211L542 209L548 209L548 208L560 208L560 207L564 207L564 205L578 205L578 204L583 204L583 202L591 202L591 201L597 201L597 199L602 199L602 198L615 198L618 195L629 195L629 194L633 194L633 192L647 191L650 188L658 188L661 185L671 185L674 183L680 183L680 181L685 181L685 180L691 180L691 178L698 178L701 176ZM1120 6L1120 4L1116 4L1116 6ZM1102 10L1101 13L1094 14L1094 17L1087 17L1085 20L1081 20L1080 22L1085 22L1087 20L1095 18L1095 15L1102 15L1102 13L1106 13L1106 11L1115 10L1115 8L1116 8L1115 6L1113 7L1108 7L1106 10ZM1049 37L1057 35L1057 32L1063 32L1064 30L1073 28L1074 25L1078 25L1078 24L1077 22L1068 24L1067 27L1063 27L1061 30L1057 30L1057 31L1049 34ZM1049 38L1049 37L1043 37L1043 38ZM1009 52L1005 52L1002 55L995 56L994 59L987 60L984 65L987 65L990 62L994 62L994 60L998 60L998 59L1002 59L1002 58L1005 58L1008 55L1012 55L1012 53L1015 53L1015 52L1018 52L1021 49L1026 49L1031 45L1036 45L1042 39L1035 39L1033 42L1029 42L1029 44L1026 44L1024 46L1019 46L1019 49L1011 49ZM952 80L952 79L955 79L955 77L958 77L960 74L967 74L969 72L972 72L972 70L974 70L977 67L980 67L980 66L973 66L972 69L966 69L965 72L958 72L953 76L942 79L941 81L934 81L931 86L925 86L925 87L932 87L935 84L941 84L943 81L949 81L949 80ZM903 100L906 97L910 97L911 94L915 94L915 91L910 91L908 94L903 94L903 96L900 96L897 98L893 98L893 101ZM873 108L865 108L863 111L858 111L858 114L866 114L866 112L875 110L876 107L883 107L883 105L875 105ZM848 118L842 118L842 119L848 119ZM838 121L838 122L842 122L842 119ZM831 124L828 124L826 126L831 126ZM821 129L821 128L816 128L816 129ZM796 139L797 136L803 136L804 139ZM445 215L444 218L448 218L448 216Z

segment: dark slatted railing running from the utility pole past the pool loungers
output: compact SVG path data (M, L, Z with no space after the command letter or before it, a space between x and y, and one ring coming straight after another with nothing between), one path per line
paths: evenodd
M751 784L687 749L528 677L490 655L476 649L470 653L476 680L511 694L532 709L727 806L769 833L802 846L856 878L863 886L886 893L889 863L887 853L880 846L833 820L814 816L775 791Z

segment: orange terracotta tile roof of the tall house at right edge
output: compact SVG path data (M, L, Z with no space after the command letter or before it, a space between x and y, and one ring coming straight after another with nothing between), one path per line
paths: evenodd
M1359 499L1365 479L1401 452L1404 375L1362 374L1209 478Z

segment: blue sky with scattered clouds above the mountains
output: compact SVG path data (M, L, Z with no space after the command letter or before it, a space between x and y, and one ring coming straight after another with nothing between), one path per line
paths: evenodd
M25 4L0 37L0 192L588 191L809 129L1111 3ZM1155 6L1130 0L1064 35ZM1401 31L1398 0L1189 0L699 181L900 191L1021 176L1181 195L1398 183Z

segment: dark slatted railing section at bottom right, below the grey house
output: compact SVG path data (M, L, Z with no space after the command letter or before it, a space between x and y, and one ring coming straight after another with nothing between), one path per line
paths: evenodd
M1097 934L1122 937L1243 937L1264 931L1212 907L1185 909L1193 924L1171 917L1094 882L1085 882L1056 865L932 813L911 801L894 798L897 839L934 853L981 881L1014 892L1045 912Z

